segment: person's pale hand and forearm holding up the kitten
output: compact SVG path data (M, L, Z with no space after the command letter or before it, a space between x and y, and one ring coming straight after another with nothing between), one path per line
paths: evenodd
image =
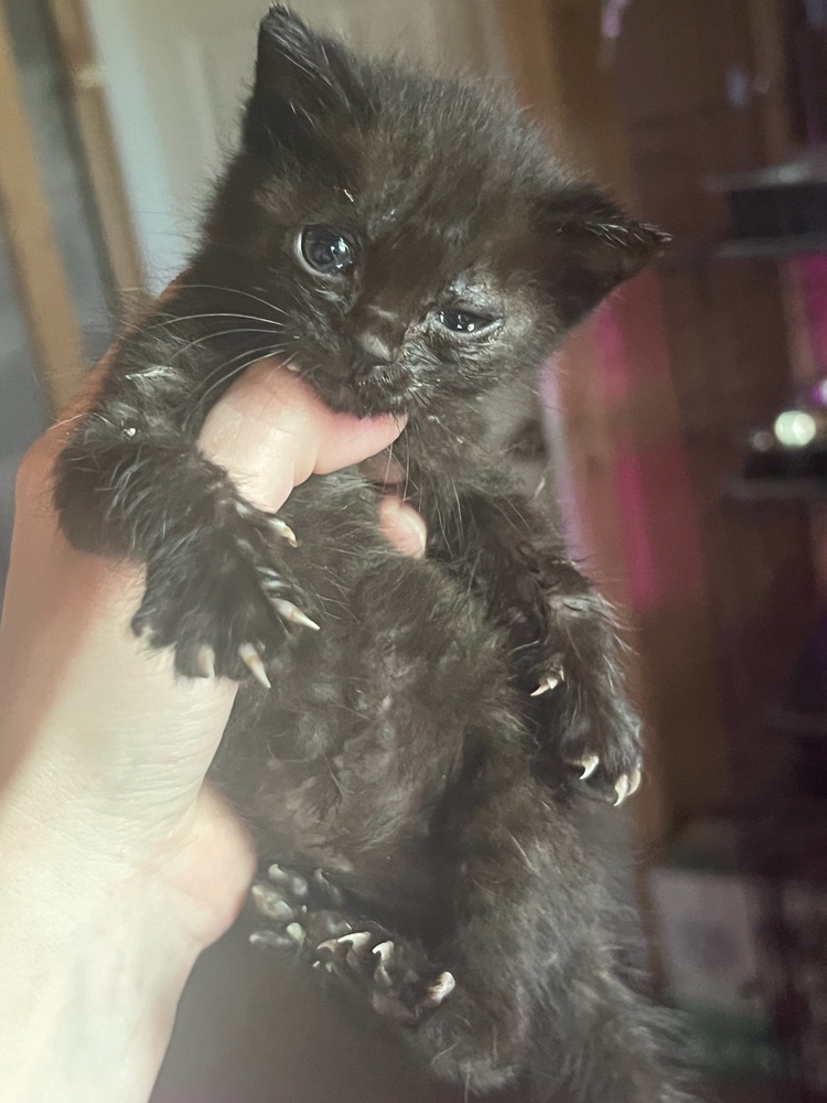
M255 863L204 783L236 685L176 676L129 629L141 568L80 554L58 531L51 474L76 414L23 461L0 624L8 1103L144 1103L186 977L236 918ZM335 415L261 362L200 445L276 511L311 473L376 456L401 428ZM422 555L421 518L393 495L379 511L391 542Z

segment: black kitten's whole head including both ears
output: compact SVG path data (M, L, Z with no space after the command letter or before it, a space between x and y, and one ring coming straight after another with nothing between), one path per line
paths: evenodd
M339 410L416 416L536 372L657 242L507 99L367 66L281 8L245 146L213 231L241 239L281 356Z

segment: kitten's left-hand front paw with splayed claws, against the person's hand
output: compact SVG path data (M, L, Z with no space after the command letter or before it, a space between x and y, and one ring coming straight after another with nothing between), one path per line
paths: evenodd
M234 524L173 534L147 566L147 588L132 630L154 647L173 647L190 677L240 678L269 688L266 662L289 625L318 630L288 580L280 550L296 543L276 517L248 511Z

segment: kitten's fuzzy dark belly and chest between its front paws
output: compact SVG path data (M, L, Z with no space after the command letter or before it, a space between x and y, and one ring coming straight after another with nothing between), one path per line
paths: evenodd
M301 539L301 518L289 520ZM498 681L507 693L506 649L439 565L370 547L364 532L363 554L342 556L345 535L340 523L325 546L316 528L300 581L322 630L284 649L269 694L241 688L217 781L264 858L345 884L353 871L359 896L404 897L407 910L450 861L439 812L476 703Z

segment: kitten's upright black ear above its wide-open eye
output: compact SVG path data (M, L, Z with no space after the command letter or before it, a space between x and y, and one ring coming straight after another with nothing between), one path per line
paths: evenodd
M283 4L275 4L258 33L256 83L247 105L244 141L265 156L287 151L300 160L319 144L318 135L335 128L346 111L367 109L350 51L323 38Z

